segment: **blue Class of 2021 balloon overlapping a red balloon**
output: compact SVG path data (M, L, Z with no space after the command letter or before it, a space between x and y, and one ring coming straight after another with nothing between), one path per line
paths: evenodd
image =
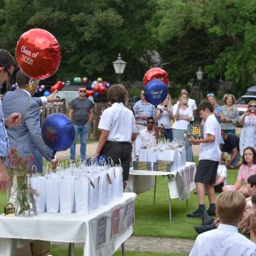
M167 86L160 80L151 80L144 88L144 96L149 103L156 106L166 99Z

